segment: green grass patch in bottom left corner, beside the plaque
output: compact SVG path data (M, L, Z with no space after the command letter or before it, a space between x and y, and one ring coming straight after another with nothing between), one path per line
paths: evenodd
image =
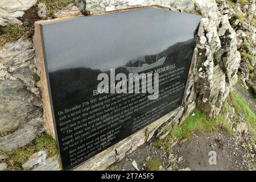
M24 147L18 148L11 152L0 151L2 155L7 156L3 162L7 163L7 170L30 170L28 168L22 168L22 164L26 163L32 154L42 150L48 151L48 157L52 157L57 154L56 142L47 134L36 137L32 142Z

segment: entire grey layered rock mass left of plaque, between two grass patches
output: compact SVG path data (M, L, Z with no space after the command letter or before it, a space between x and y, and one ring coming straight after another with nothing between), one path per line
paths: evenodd
M0 150L22 147L44 130L34 57L32 41L24 37L0 49Z

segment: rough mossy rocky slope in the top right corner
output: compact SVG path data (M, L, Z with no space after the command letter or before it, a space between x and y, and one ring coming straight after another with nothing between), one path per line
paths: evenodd
M225 1L218 3L218 7L225 5ZM239 71L241 73L242 85L247 89L247 81L255 79L255 63L256 63L256 11L255 0L246 3L236 3L233 7L229 7L228 20L236 31L237 49L241 52L241 64ZM221 11L224 14L224 11Z

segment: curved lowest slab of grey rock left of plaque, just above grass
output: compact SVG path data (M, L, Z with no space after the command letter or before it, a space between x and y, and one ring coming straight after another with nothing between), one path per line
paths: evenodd
M42 127L42 111L39 111L37 116L31 116L31 118L31 121L27 122L26 125L23 125L14 133L0 138L0 150L9 152L16 148L26 146L36 135L44 131Z

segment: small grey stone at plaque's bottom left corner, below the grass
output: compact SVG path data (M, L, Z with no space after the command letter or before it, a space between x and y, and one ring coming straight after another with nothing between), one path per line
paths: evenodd
M48 158L46 163L35 167L32 171L60 171L60 160L59 156L55 155L52 158Z

